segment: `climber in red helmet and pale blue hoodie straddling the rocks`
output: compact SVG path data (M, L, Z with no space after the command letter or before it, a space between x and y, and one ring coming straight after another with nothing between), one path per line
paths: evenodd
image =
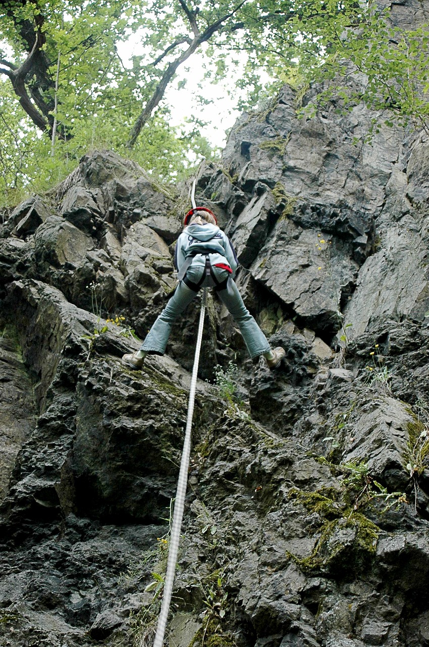
M205 207L195 207L185 215L183 225L174 257L179 281L176 290L147 333L140 350L123 355L123 363L140 368L148 353L163 355L176 318L191 303L200 287L214 287L238 323L251 358L264 355L269 369L280 366L286 353L281 346L271 349L266 336L244 305L233 280L238 267L235 250L217 226L213 212Z

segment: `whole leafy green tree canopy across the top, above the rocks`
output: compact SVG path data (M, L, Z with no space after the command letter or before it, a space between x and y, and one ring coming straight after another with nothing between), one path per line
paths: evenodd
M164 98L197 51L206 80L220 94L246 89L249 104L285 80L319 82L307 110L335 96L342 109L363 100L388 124L428 127L428 26L395 27L373 0L6 0L2 10L0 190L12 202L28 184L52 186L89 148L165 179L186 173L191 153L213 155L191 115L191 133L169 126ZM131 61L119 53L129 36L140 42Z

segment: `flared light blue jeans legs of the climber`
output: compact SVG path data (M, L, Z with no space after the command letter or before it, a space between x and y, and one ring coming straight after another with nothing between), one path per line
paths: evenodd
M192 279L193 280L193 277ZM171 333L171 326L178 316L185 310L187 305L195 298L196 292L191 290L183 281L180 281L176 291L163 309L162 313L152 325L151 330L141 345L142 351L149 353L165 353L165 347ZM255 319L244 305L240 292L235 285L235 281L229 278L224 290L219 290L218 295L238 323L240 333L246 343L247 351L251 358L267 353L270 349L267 338L255 322Z

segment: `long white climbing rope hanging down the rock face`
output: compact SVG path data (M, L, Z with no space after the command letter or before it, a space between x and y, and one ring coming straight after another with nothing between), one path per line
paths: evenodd
M191 202L195 208L195 181L191 193ZM173 592L174 573L176 571L177 555L179 551L180 532L182 531L183 509L185 508L185 496L187 488L187 477L189 470L189 457L191 455L191 430L192 419L194 415L194 402L196 391L196 376L198 373L198 364L200 364L200 350L204 329L205 315L205 289L202 292L200 322L198 323L198 335L196 338L194 367L191 377L191 388L189 389L189 403L185 430L185 440L183 441L182 461L180 462L179 479L177 483L176 498L174 499L173 522L171 524L171 534L169 541L169 556L167 560L167 573L165 574L165 583L161 603L158 626L154 638L154 647L162 647L167 626L167 619L171 604L171 593Z

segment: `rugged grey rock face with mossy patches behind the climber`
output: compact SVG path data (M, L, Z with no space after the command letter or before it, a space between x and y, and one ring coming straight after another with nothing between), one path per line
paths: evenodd
M429 644L429 140L296 102L198 175L286 361L251 362L208 295L170 647ZM167 355L120 358L187 208L103 151L1 226L2 646L151 644L198 299Z

